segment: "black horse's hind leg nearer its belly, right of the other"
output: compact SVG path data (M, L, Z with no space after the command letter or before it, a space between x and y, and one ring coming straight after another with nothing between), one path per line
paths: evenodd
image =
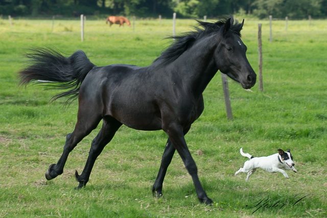
M106 144L111 141L114 134L121 126L122 124L112 117L103 119L103 125L100 132L92 140L91 148L82 174L78 175L77 171L75 173L76 180L79 182L77 188L82 188L86 185L97 157L101 154Z

